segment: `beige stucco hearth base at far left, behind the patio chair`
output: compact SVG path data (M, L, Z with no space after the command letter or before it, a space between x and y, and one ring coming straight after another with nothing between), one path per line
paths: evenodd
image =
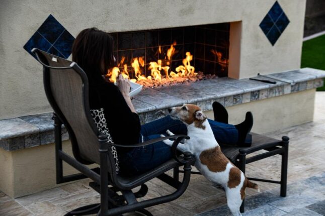
M62 147L72 156L69 141L64 141ZM66 163L63 170L64 175L78 173ZM14 152L0 148L0 173L0 191L15 198L57 187L54 144Z

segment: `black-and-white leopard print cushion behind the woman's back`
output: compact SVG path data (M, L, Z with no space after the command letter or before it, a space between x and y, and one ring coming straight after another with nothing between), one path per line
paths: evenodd
M110 135L110 132L107 128L107 124L106 124L106 119L105 119L105 116L104 116L104 109L101 108L100 110L91 110L90 111L92 117L93 117L93 120L95 122L95 125L98 129L98 131L102 134L105 134L107 135L107 139L108 139L108 142L109 143L114 143L113 142L113 139ZM116 166L116 173L119 172L119 169L120 169L120 166L119 166L119 160L118 160L118 157L117 157L117 151L116 151L116 148L114 146L111 147L111 151L112 151L112 154L114 156L114 161L115 161L115 166Z

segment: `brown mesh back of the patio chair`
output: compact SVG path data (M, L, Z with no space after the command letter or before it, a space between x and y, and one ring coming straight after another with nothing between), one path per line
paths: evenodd
M52 61L52 55L44 53L48 65L53 67L69 66L72 62L62 58ZM99 143L93 126L86 116L85 89L82 76L75 69L49 69L51 93L65 120L71 127L78 145L80 156L91 162L99 163ZM97 145L96 145L97 144ZM73 144L72 144L73 145Z

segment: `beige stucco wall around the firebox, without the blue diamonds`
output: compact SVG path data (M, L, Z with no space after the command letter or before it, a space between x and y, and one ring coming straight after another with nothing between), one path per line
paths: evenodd
M50 111L42 67L23 46L52 14L74 37L89 27L118 32L242 21L239 76L300 67L305 0L279 0L290 20L274 46L259 24L275 0L2 0L0 119Z

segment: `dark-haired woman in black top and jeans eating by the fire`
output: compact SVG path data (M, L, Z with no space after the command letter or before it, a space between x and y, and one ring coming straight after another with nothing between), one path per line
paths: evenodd
M108 69L114 66L113 38L96 28L85 29L72 45L72 60L86 72L89 79L89 100L92 110L104 109L110 135L114 143L136 144L165 134L187 134L186 126L170 117L140 125L139 116L129 96L130 83L121 75L117 86L104 79ZM221 110L225 111L224 107ZM244 143L253 125L253 117L233 126L209 120L215 138L223 144ZM171 148L164 142L137 148L118 149L120 172L138 174L162 164L172 157Z

